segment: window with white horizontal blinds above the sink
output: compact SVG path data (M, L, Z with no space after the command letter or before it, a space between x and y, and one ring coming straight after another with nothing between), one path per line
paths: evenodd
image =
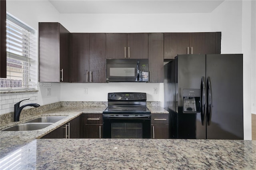
M35 30L6 14L6 78L1 89L32 89L37 82Z

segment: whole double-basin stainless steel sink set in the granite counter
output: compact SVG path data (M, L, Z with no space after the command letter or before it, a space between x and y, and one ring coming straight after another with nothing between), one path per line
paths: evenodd
M67 116L43 116L38 117L36 119L32 119L30 121L26 121L19 125L15 125L10 128L6 128L3 131L26 131L26 130L39 130L42 128L46 128Z

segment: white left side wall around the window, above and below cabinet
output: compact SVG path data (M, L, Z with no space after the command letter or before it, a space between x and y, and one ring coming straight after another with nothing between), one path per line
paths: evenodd
M60 22L60 13L46 0L7 0L6 11L37 31L38 22ZM40 105L60 101L60 83L52 83L51 96L47 96L47 88L38 87L37 103Z

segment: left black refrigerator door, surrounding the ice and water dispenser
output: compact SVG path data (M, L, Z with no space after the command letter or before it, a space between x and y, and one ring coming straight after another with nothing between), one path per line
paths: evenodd
M196 113L184 112L184 89L201 91L202 77L205 77L205 55L178 55L178 138L206 139L206 124L202 123L200 109ZM191 94L191 93L190 93ZM200 101L201 103L201 101ZM203 125L202 125L203 124Z

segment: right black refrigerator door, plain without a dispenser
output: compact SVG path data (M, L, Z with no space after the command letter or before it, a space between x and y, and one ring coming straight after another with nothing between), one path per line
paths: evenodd
M206 55L207 139L243 139L243 56Z

